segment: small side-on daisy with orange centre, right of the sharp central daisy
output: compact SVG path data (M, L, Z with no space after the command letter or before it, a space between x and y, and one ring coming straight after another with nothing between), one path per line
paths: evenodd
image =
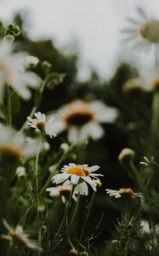
M136 196L141 196L141 193L135 193L133 192L133 189L130 188L122 188L119 190L113 190L113 189L105 189L106 193L110 196L114 196L115 198L120 198L124 195L128 195L130 197L136 197Z

